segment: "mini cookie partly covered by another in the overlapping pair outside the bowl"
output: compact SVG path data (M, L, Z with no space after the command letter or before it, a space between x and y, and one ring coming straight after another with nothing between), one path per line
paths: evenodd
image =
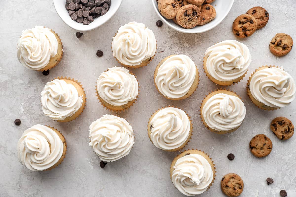
M257 6L252 7L247 11L246 14L252 15L256 21L257 21L257 29L264 27L268 20L269 20L269 14L263 7Z

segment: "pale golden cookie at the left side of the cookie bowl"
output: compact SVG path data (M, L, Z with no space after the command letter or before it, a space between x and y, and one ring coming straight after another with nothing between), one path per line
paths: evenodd
M177 0L158 0L158 10L167 19L175 18L179 8Z

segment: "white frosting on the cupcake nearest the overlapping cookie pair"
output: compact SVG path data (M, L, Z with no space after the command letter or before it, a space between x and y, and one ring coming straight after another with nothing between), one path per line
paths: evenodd
M251 62L249 48L237 40L224 40L205 52L208 73L219 81L231 81L239 78Z

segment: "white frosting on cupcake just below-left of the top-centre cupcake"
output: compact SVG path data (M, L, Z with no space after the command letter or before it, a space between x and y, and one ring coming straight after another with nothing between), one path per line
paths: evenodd
M96 88L105 102L121 106L136 99L139 84L128 69L115 66L99 76Z

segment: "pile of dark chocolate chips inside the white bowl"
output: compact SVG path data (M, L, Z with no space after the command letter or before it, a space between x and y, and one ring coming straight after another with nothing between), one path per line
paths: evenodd
M66 0L66 9L72 20L89 25L104 15L110 8L111 0Z

